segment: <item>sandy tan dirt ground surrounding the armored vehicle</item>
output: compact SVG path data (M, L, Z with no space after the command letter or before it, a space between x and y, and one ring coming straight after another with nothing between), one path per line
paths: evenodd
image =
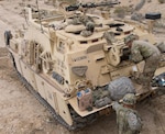
M4 47L6 30L15 31L21 29L22 24L26 24L21 14L24 4L22 1L0 0L0 47ZM155 1L154 4L158 7ZM26 4L31 2L29 0ZM43 0L38 2L43 4ZM128 4L128 0L123 2ZM147 10L148 4L153 7L152 3L147 3ZM145 12L146 9L143 8L142 11ZM155 36L158 42L165 40L165 33L155 33ZM6 48L0 48L0 134L117 134L118 132L114 113L99 119L81 131L67 131L53 120L47 110L20 82ZM142 134L165 134L165 96L139 103L138 111L144 124Z

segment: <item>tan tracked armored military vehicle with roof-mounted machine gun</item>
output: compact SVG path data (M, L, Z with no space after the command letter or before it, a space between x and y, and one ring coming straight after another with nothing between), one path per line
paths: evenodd
M75 7L67 10L72 8ZM155 43L142 24L117 21L107 18L105 12L100 16L77 11L64 15L57 11L26 10L29 27L15 35L6 31L7 48L21 80L69 130L92 123L110 112L112 101L107 86L122 77L131 78L133 70L143 70L144 62L129 60L124 37L135 34ZM162 62L156 74L163 72L164 66ZM133 86L140 99L151 93L140 94L141 86ZM96 92L106 99L97 100ZM106 104L96 105L95 101Z

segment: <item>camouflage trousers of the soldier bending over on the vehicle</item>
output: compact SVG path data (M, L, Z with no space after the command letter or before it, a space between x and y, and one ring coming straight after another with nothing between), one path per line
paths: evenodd
M151 57L145 59L145 66L143 69L143 74L140 75L139 80L143 86L150 86L150 82L153 79L155 70L160 63L160 55L154 54Z

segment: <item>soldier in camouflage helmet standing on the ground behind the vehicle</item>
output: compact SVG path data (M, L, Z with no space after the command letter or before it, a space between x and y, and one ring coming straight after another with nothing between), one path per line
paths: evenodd
M134 110L136 98L134 93L127 93L122 104L112 103L112 109L117 113L117 124L119 134L140 134L142 121L139 113Z

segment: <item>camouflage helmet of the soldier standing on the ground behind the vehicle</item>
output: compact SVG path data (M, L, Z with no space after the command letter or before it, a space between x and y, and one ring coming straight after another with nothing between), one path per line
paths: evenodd
M123 104L129 104L129 105L133 105L136 103L136 97L134 93L127 93L124 97L123 97Z

